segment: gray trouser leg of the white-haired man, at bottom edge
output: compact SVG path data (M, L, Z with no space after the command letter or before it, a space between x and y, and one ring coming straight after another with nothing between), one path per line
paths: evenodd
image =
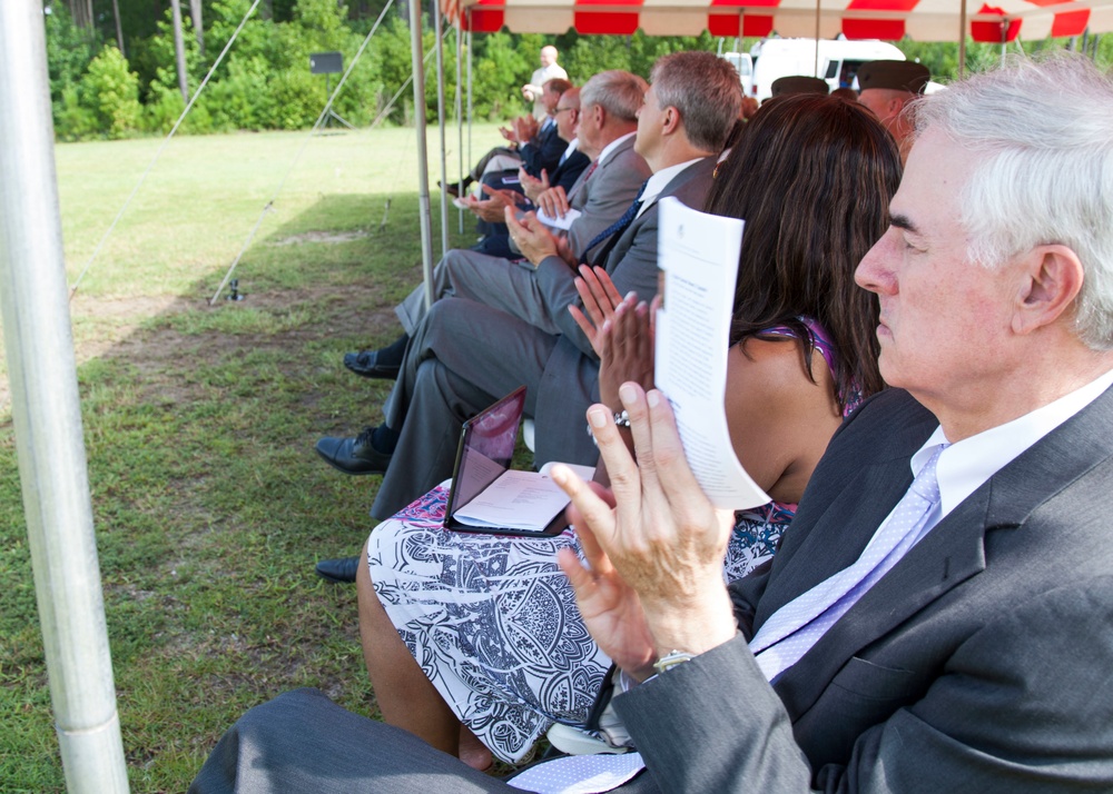
M621 791L660 790L642 773ZM521 794L411 733L341 708L317 689L279 695L225 732L189 794L233 792Z

